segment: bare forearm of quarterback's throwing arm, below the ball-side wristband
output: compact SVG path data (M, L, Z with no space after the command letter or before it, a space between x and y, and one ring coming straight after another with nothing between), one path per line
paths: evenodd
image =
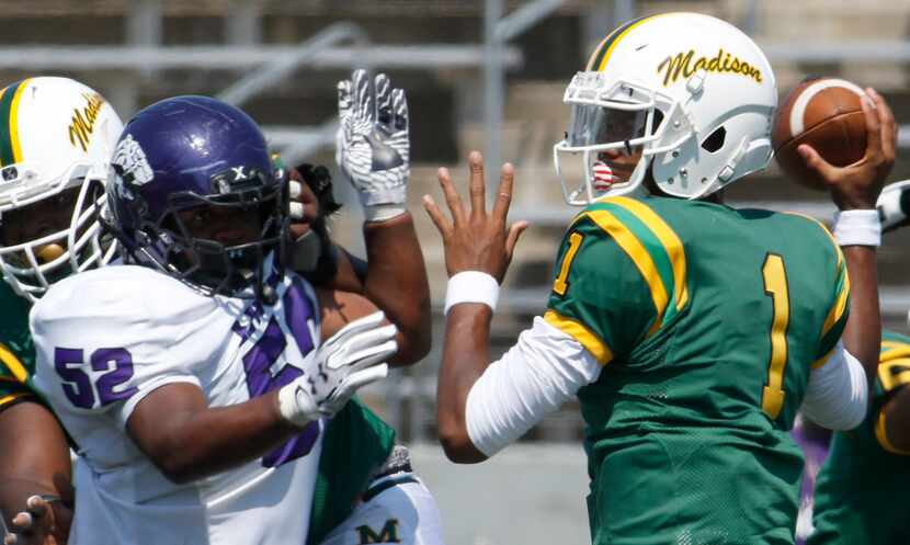
M866 376L874 377L881 341L875 248L845 246L843 254L850 275L850 317L843 332L843 344L863 364Z

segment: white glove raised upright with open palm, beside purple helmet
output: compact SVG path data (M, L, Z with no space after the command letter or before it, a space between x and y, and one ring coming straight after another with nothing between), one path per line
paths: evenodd
M365 70L338 82L335 162L357 190L366 219L382 222L405 213L411 143L405 91L393 89L385 73L374 87Z

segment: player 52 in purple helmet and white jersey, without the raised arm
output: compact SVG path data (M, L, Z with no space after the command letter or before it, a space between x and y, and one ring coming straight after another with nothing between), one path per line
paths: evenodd
M112 162L134 264L31 315L36 385L80 453L69 543L304 543L319 419L385 376L396 328L285 271L286 184L239 110L162 101Z

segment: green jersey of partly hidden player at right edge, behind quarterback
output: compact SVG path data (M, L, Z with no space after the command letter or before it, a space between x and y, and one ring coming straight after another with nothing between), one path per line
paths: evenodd
M863 424L835 433L818 475L808 545L903 545L910 542L910 452L885 435L883 408L910 383L910 337L886 332L878 377Z

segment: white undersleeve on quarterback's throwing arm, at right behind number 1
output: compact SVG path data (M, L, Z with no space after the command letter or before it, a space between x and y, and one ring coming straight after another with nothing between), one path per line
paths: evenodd
M852 430L866 417L868 386L863 365L842 343L820 368L812 370L801 411L831 430Z

